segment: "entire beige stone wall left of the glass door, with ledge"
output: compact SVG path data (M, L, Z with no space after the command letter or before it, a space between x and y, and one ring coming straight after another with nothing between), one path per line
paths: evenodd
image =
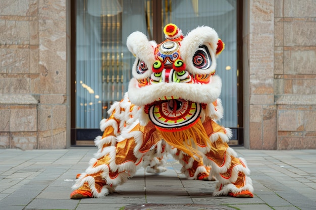
M1 1L0 59L0 147L66 148L66 1Z

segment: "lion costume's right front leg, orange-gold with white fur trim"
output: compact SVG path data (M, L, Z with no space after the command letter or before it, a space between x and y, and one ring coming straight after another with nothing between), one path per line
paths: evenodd
M214 196L231 195L234 197L252 197L252 181L248 175L250 170L243 158L227 145L231 131L206 119L203 126L212 141L213 150L203 148L204 163L212 167L210 175L214 175L219 183Z

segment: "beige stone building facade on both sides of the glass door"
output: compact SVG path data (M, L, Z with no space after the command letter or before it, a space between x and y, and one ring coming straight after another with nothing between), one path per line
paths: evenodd
M0 148L68 148L71 2L0 4ZM243 0L241 7L243 146L315 149L316 2Z

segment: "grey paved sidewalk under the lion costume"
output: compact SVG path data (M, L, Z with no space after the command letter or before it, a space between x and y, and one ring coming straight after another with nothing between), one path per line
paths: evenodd
M0 150L0 209L316 209L316 150L262 151L233 147L251 170L254 198L212 197L216 181L186 180L168 157L161 175L140 169L106 198L72 200L71 186L96 152Z

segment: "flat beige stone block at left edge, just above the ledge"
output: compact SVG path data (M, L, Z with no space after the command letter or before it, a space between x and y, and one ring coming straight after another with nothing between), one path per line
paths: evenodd
M1 78L0 76L0 93L29 93L30 80L28 78Z

